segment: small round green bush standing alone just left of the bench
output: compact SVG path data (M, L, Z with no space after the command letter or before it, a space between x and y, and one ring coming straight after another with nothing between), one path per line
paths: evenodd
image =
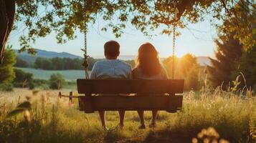
M63 87L63 84L65 84L65 79L60 73L52 74L49 78L50 89L61 89Z

